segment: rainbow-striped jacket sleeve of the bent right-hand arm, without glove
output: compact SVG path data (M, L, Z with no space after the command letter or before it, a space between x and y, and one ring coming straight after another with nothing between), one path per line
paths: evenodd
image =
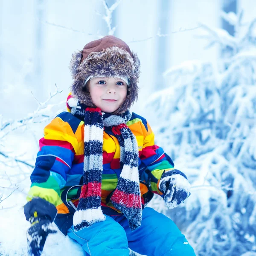
M139 170L141 179L148 183L149 189L158 195L163 195L158 189L159 181L165 171L174 169L174 163L163 151L163 148L155 145L154 132L148 122L144 130L142 151L139 152Z

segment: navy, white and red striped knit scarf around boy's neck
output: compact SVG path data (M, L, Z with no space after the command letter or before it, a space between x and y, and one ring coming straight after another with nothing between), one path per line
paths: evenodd
M73 99L74 100L74 99ZM104 221L101 209L101 185L103 171L103 129L112 127L120 144L120 169L116 189L111 196L113 206L128 219L131 230L140 227L142 204L138 172L138 145L134 134L125 125L131 112L121 115L102 113L99 108L83 108L79 103L71 104L71 113L84 119L84 180L79 204L73 217L76 231Z

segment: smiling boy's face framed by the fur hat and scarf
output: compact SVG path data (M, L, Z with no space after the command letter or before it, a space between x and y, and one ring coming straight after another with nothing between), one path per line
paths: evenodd
M88 86L93 103L106 113L116 111L127 96L126 82L117 77L92 78Z

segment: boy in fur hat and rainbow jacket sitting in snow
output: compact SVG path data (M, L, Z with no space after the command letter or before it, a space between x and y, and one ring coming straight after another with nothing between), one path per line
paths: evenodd
M154 145L147 121L129 111L140 61L114 36L73 54L68 112L44 129L31 175L29 253L41 255L54 221L86 255L195 256L174 222L149 207L161 195L174 208L189 195L186 175ZM57 214L57 215L56 215Z

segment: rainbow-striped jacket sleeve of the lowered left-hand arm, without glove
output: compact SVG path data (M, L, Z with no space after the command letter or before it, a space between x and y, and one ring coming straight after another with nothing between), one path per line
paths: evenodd
M71 113L63 112L44 128L44 137L39 141L35 169L30 179L31 187L27 201L43 198L57 205L60 190L65 186L74 155L79 151L76 129L80 120Z

